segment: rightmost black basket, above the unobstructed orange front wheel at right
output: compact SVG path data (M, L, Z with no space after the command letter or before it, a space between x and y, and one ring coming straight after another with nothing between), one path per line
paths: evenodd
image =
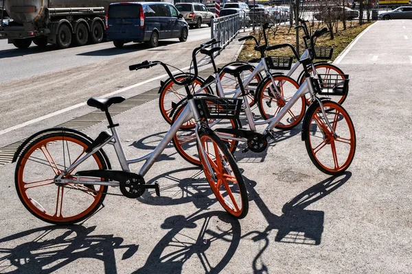
M349 75L347 74L317 74L312 78L315 92L319 95L347 95L349 90Z

